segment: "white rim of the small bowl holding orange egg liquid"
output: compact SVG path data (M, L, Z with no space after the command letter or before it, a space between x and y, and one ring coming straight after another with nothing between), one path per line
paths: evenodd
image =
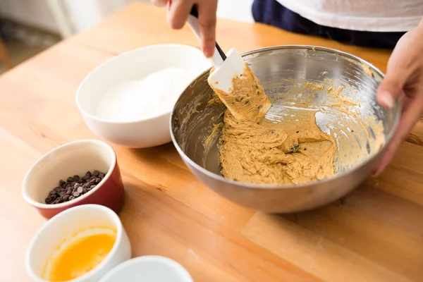
M88 271L86 274L83 274L82 276L79 276L75 279L68 280L66 282L82 282L85 281L85 279L89 278L90 276L93 276L97 274L102 267L107 262L110 262L111 257L113 257L116 252L118 252L118 247L120 247L121 242L123 240L123 224L121 219L119 218L118 214L116 214L112 209L109 207L105 207L101 204L82 204L80 206L72 207L71 209L66 209L66 211L63 211L56 216L52 217L49 221L44 223L38 230L35 235L32 236L30 244L27 247L27 250L25 252L25 269L27 270L27 273L31 276L31 278L35 279L35 281L42 281L42 282L49 282L45 280L44 278L38 276L35 274L35 271L32 268L32 264L30 263L30 254L34 248L35 243L40 238L42 233L49 227L53 226L56 223L61 223L61 217L66 216L67 214L71 214L72 212L75 212L75 210L78 209L98 209L103 214L106 214L106 216L109 216L114 223L116 224L116 239L114 241L113 247L111 247L110 252L104 257L102 262L97 264L97 266L94 267L91 271ZM106 271L105 271L106 272Z

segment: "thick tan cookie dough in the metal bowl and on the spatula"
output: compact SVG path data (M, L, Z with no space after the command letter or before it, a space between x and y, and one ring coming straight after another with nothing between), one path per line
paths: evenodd
M269 184L304 183L332 176L336 142L319 130L315 111L273 123L264 118L269 100L250 99L254 95L266 96L262 86L255 85L259 85L257 78L250 68L245 68L242 77L233 78L231 93L216 91L222 101L233 97L223 118L219 147L223 176Z

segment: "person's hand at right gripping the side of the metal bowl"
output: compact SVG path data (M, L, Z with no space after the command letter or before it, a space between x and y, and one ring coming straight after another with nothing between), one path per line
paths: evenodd
M379 175L391 162L398 147L423 115L423 20L398 41L376 98L379 104L387 108L391 108L399 99L403 111L398 129L374 176Z

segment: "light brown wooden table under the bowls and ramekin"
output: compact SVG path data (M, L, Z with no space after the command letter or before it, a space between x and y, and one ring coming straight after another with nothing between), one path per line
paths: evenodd
M116 54L158 43L198 46L188 27L174 31L166 12L131 4L0 78L0 281L28 281L23 259L45 222L20 195L42 154L95 138L75 105L94 67ZM386 70L389 51L351 47L260 24L219 20L223 49L278 44L341 49ZM133 256L164 255L195 281L423 281L423 121L379 178L312 212L269 215L223 199L198 181L173 145L115 146L125 183L119 216Z

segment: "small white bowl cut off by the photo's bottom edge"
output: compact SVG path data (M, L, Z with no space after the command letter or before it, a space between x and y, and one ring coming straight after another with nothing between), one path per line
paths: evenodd
M178 262L167 257L144 256L130 259L111 269L99 282L193 282Z

